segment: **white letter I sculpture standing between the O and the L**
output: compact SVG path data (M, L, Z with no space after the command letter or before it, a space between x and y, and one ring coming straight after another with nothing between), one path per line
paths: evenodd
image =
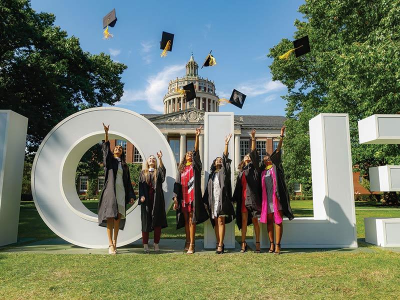
M204 188L208 182L209 168L215 157L222 156L225 148L224 137L229 133L233 134L233 112L206 112L204 115ZM231 182L233 193L233 176L234 176L234 141L231 138L229 141L229 157L232 159L230 166ZM234 248L234 226L235 220L226 224L224 245L226 248ZM204 224L204 248L215 248L215 231L209 220Z

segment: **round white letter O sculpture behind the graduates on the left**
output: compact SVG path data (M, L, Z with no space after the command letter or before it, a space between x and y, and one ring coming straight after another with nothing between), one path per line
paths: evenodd
M166 211L176 175L176 162L168 142L153 123L136 112L98 107L77 112L58 123L44 138L34 158L32 195L37 211L54 233L88 248L107 248L108 241L105 228L97 225L97 215L77 196L75 172L85 151L104 138L101 122L110 124L110 139L134 142L143 159L158 150L163 152ZM140 207L133 205L127 211L124 230L118 234L118 244L122 246L140 237Z

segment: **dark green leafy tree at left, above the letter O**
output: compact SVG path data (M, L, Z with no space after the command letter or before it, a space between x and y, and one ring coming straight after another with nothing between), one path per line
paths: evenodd
M53 14L36 13L29 0L1 0L0 18L0 109L29 118L28 153L66 116L119 101L126 65L83 51Z

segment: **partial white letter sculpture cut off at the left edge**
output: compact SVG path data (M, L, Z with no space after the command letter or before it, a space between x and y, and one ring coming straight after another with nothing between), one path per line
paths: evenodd
M0 246L14 243L28 119L12 110L0 110Z

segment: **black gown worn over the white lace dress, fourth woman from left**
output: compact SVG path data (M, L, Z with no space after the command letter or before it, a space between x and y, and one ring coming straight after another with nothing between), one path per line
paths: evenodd
M227 155L222 155L222 166L218 171L219 177L219 186L221 188L221 192L219 194L219 204L216 209L216 215L227 215L225 216L225 224L230 223L235 218L235 212L232 205L232 186L230 180L230 163L231 159L228 158ZM215 159L212 161L212 165L210 166L210 174L208 176L207 186L205 187L203 201L207 206L209 220L211 221L212 227L215 226L215 220L211 215L211 205L212 205L212 192L213 192L213 183L212 177L215 173Z

